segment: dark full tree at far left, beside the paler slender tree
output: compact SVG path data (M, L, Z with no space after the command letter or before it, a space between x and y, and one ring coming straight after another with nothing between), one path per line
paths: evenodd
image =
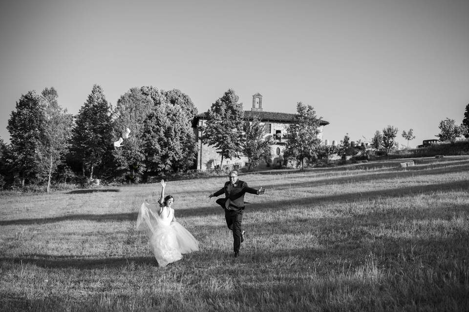
M38 142L41 139L43 104L35 91L22 95L16 103L16 110L8 119L11 151L14 157L14 171L19 175L21 186L25 180L37 176L35 163Z

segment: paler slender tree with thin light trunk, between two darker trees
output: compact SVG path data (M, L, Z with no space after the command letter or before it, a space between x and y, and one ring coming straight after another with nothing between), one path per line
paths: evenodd
M50 191L51 177L68 150L72 127L72 116L59 106L57 98L57 91L53 87L45 88L42 92L44 118L38 141L37 163L40 174L47 176L47 193Z

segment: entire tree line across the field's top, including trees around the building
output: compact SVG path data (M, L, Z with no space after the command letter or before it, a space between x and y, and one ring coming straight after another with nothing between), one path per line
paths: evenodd
M41 94L22 95L8 119L10 144L0 138L0 187L25 184L81 181L94 177L105 181L145 182L159 176L191 169L195 161L196 138L192 119L197 109L191 98L178 89L159 90L153 86L131 88L113 108L101 86L91 93L76 116L59 105L58 93L45 88ZM213 102L199 127L201 140L216 149L223 159L247 156L253 169L271 157L272 136L266 136L259 119L245 119L242 103L233 89ZM297 103L297 114L287 128L282 151L284 164L290 161L301 169L318 157L345 155L350 151L346 134L339 146L324 146L318 138L321 117L310 105ZM113 142L130 130L124 144ZM445 119L439 125L443 141L468 137L469 104L463 124ZM387 126L376 131L371 147L389 153L397 148L398 129ZM413 130L402 133L407 142ZM357 142L360 143L360 140ZM408 145L408 143L407 143Z

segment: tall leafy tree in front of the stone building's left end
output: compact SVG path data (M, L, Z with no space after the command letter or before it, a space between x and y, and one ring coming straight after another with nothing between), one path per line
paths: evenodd
M202 142L214 146L224 158L239 157L243 146L243 104L238 103L235 90L229 89L218 98L207 112L207 121L202 127Z

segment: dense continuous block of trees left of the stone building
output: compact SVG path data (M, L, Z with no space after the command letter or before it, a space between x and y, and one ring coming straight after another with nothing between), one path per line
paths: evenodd
M145 181L151 175L192 166L197 109L180 90L131 88L113 108L94 85L76 116L59 105L54 88L29 91L8 119L10 144L0 139L2 187L94 177ZM119 148L122 131L130 136Z

